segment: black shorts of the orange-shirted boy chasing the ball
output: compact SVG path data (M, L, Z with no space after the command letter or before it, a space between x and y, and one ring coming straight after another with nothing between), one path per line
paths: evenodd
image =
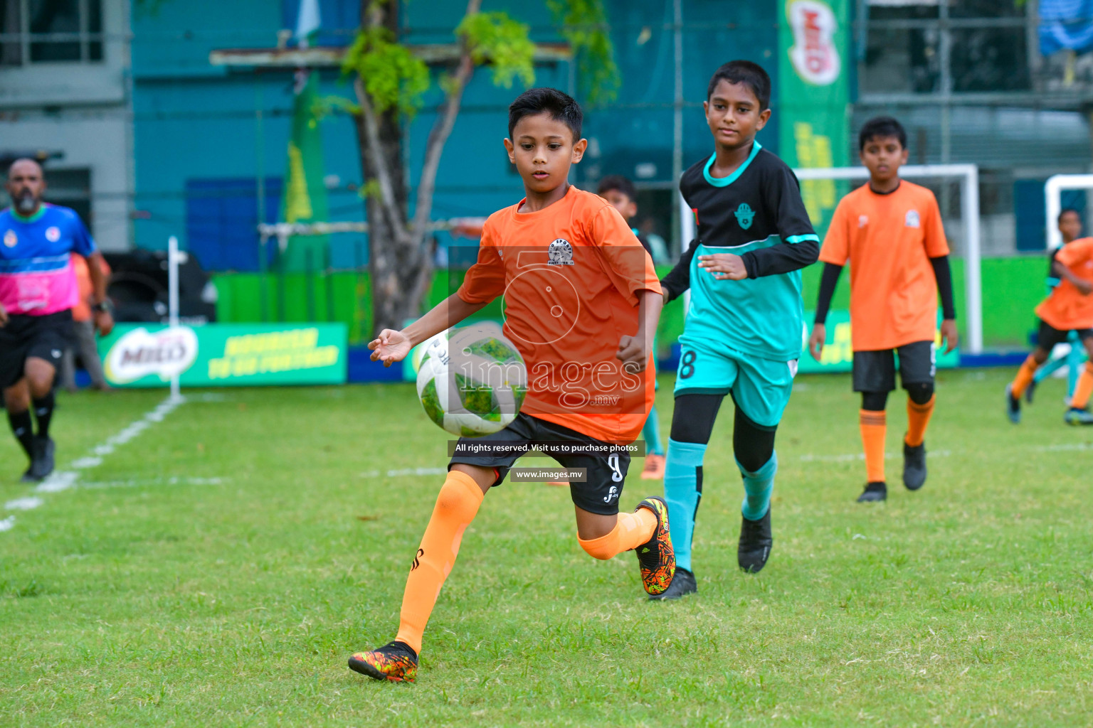
M569 497L577 508L598 513L614 515L619 512L619 496L622 494L622 484L630 468L630 453L625 450L612 450L610 443L597 440L576 430L561 425L554 425L537 417L519 414L513 423L500 432L483 438L460 438L460 443L489 443L510 445L508 454L504 455L456 455L448 463L448 469L459 463L492 467L497 470L494 487L500 486L513 464L521 455L534 449L537 442L573 442L577 445L601 445L603 455L551 455L563 467L583 467L587 470L586 482L571 482Z

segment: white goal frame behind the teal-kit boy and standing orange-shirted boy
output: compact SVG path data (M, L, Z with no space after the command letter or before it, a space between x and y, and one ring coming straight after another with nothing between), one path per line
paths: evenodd
M866 180L869 170L865 167L824 167L795 169L800 180ZM967 333L966 346L969 354L983 351L983 288L980 277L982 250L979 244L979 168L976 165L905 165L900 168L900 177L905 179L940 179L960 184L961 232L964 253L964 315ZM1093 188L1093 175L1084 175ZM1053 178L1054 179L1054 178ZM1050 215L1050 212L1048 212ZM682 223L682 244L684 249L695 236L694 216L686 202L680 196L680 220Z

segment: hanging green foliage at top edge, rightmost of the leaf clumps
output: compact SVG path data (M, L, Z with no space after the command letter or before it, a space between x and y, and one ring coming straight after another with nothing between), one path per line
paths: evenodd
M585 98L590 104L614 100L619 95L619 67L608 35L603 0L546 0L546 5L573 48Z

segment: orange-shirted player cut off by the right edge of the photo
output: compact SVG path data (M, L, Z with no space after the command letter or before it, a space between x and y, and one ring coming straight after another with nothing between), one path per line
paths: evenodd
M1093 414L1086 409L1093 393L1093 238L1078 238L1082 219L1074 210L1063 210L1057 222L1063 244L1051 253L1051 273L1059 283L1036 307L1036 348L1006 387L1006 414L1014 425L1021 421L1021 395L1033 382L1036 368L1047 361L1056 344L1067 341L1070 332L1078 334L1090 360L1078 377L1063 421L1093 425Z

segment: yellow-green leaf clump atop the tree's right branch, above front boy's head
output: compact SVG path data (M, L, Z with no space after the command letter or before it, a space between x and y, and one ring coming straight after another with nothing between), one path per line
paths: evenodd
M528 26L508 13L471 13L456 28L475 64L493 64L493 83L510 88L513 79L525 85L536 82L532 65L536 45L528 37Z

